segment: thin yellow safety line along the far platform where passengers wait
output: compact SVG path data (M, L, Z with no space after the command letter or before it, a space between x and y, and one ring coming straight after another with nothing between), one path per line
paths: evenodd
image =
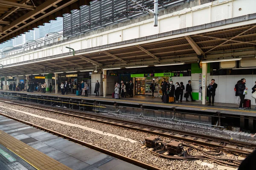
M51 94L54 96L58 96L58 94ZM66 96L70 96L70 95L66 95ZM74 96L70 96L70 97L74 97ZM82 96L81 96L82 97ZM97 97L83 97L83 98L88 98L88 99L102 99L102 98L97 98ZM132 103L144 103L144 104L152 104L151 102L140 102L140 101L127 101L127 100L116 100L116 99L102 99L102 100L110 100L110 101L122 101L122 102L132 102ZM166 106L170 106L170 104L166 104L166 103L154 103L155 105L166 105ZM198 106L191 106L191 105L173 105L178 106L178 107L186 107L186 108L199 108L201 110L208 110L208 109L212 109L212 110L221 110L221 111L237 111L237 112L246 112L246 113L256 113L256 111L248 111L248 110L239 110L239 109L226 109L226 108L207 108L207 107L198 107Z

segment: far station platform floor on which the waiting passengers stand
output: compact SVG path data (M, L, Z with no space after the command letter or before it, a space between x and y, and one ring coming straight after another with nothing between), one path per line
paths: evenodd
M30 96L47 96L47 97L57 97L63 99L80 99L87 102L101 102L112 104L117 103L118 105L132 105L133 107L139 108L157 108L158 110L170 110L177 112L187 112L193 114L202 114L208 116L231 116L231 117L240 117L245 116L248 118L256 118L256 106L252 105L251 108L247 108L244 110L238 109L239 105L236 104L228 104L228 103L215 103L215 106L202 105L201 102L179 102L179 103L163 103L161 102L160 97L152 98L151 96L134 96L133 98L121 98L121 99L113 99L112 96L94 96L89 95L85 96L76 96L75 94L64 94L62 95L60 92L58 94L55 93L41 93L41 92L23 92L23 91L0 91L0 94L26 94ZM208 104L208 103L207 103Z

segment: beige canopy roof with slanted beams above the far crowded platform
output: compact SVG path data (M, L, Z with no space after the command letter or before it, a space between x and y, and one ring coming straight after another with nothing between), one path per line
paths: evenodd
M93 47L67 54L33 59L18 64L0 66L0 76L81 71L97 68L125 68L134 65L149 65L185 62L198 63L202 60L241 57L255 59L256 56L256 24L236 26L233 28L208 31L189 36L167 40L137 43L129 40L126 47L112 48L118 43L108 46ZM120 42L121 45L125 42ZM131 44L131 45L130 45ZM105 48L106 50L103 50ZM25 51L26 52L26 51ZM24 52L24 53L25 53Z

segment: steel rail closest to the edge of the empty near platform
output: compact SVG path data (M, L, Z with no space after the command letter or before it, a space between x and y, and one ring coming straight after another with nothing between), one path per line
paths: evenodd
M21 120L21 119L17 119L17 118L15 118L15 117L6 115L6 114L4 114L4 113L0 113L0 115L5 116L5 117L8 117L8 118L13 119L13 120L16 120L16 121L18 121L18 122L24 123L24 124L26 124L26 125L29 125L29 126L32 126L32 127L36 127L36 128L38 128L38 129L45 130L45 131L47 131L47 132L49 132L49 133L53 133L53 134L55 134L55 135L57 135L57 136L61 136L61 137L64 138L64 139L68 139L68 140L70 140L70 141L72 141L72 142L75 142L75 143L81 144L81 145L83 145L83 146L89 147L89 148L91 148L91 149L93 149L93 150L97 150L97 151L99 151L99 152L105 153L105 154L107 154L107 155L109 155L109 156L113 156L113 157L115 157L115 158L117 158L117 159L121 159L121 160L126 161L126 162L128 162L128 163L137 165L137 166L139 166L139 167L143 167L143 168L145 168L145 169L147 169L147 170L161 170L161 169L158 168L158 167L154 167L154 166L151 166L151 165L149 165L149 164L145 164L145 163L143 163L143 162L141 162L141 161L137 161L137 160L135 160L135 159L131 159L131 158L127 157L127 156L123 156L123 155L120 155L120 154L118 154L118 153L114 153L114 152L112 152L112 151L110 151L110 150L103 149L102 147L97 147L97 146L95 146L95 145L93 145L93 144L89 144L89 143L87 143L87 142L80 141L80 140L78 140L78 139L72 138L72 137L67 136L67 135L64 135L64 134L62 134L62 133L58 133L58 132L56 132L56 131L54 131L54 130L50 130L50 129L47 129L47 128L45 128L45 127L41 127L41 126L35 125L35 124L33 124L33 123L29 123L29 122L23 121L23 120Z

